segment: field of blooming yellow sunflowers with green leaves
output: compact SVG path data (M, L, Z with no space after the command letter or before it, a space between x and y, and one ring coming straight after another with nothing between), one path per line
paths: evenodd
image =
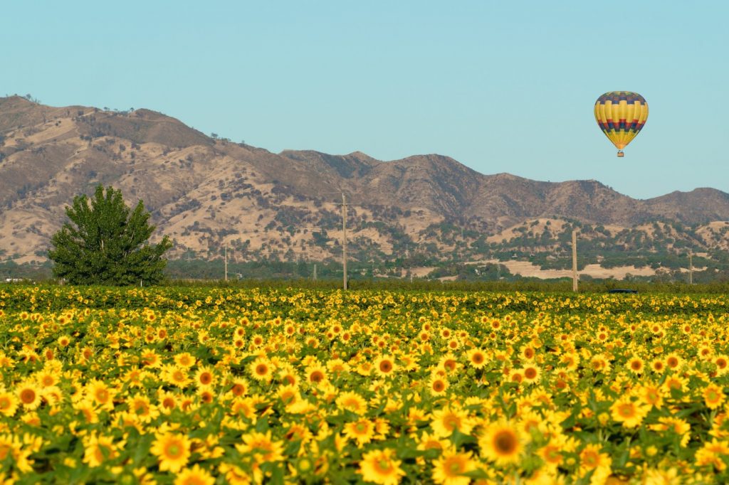
M0 286L0 484L727 483L727 308Z

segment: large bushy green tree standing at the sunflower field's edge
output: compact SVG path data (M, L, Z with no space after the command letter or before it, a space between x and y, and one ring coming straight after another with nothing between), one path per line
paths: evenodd
M53 274L72 284L136 285L159 283L167 261L163 254L172 247L167 236L156 245L147 240L155 226L139 201L133 211L122 192L97 186L91 199L74 197L66 208L71 219L51 238L48 257L55 263Z

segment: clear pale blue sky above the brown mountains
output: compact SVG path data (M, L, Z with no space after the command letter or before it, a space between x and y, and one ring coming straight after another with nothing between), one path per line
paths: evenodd
M6 1L0 95L148 108L270 151L729 192L729 2ZM603 92L650 116L615 157Z

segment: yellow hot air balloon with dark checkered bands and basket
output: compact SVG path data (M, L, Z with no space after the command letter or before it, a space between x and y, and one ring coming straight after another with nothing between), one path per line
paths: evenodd
M648 119L648 103L637 92L606 92L595 102L595 119L602 133L617 146L617 156L623 157L623 149Z

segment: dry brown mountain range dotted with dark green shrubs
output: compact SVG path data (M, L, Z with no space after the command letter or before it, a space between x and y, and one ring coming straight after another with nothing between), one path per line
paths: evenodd
M560 253L572 228L599 242L596 259L621 248L711 259L729 248L729 194L717 189L636 200L599 181L483 175L437 154L275 154L148 109L0 98L0 259L44 261L66 205L98 184L142 200L157 237L174 240L173 259L217 258L226 245L239 261L338 258L342 194L362 261Z

